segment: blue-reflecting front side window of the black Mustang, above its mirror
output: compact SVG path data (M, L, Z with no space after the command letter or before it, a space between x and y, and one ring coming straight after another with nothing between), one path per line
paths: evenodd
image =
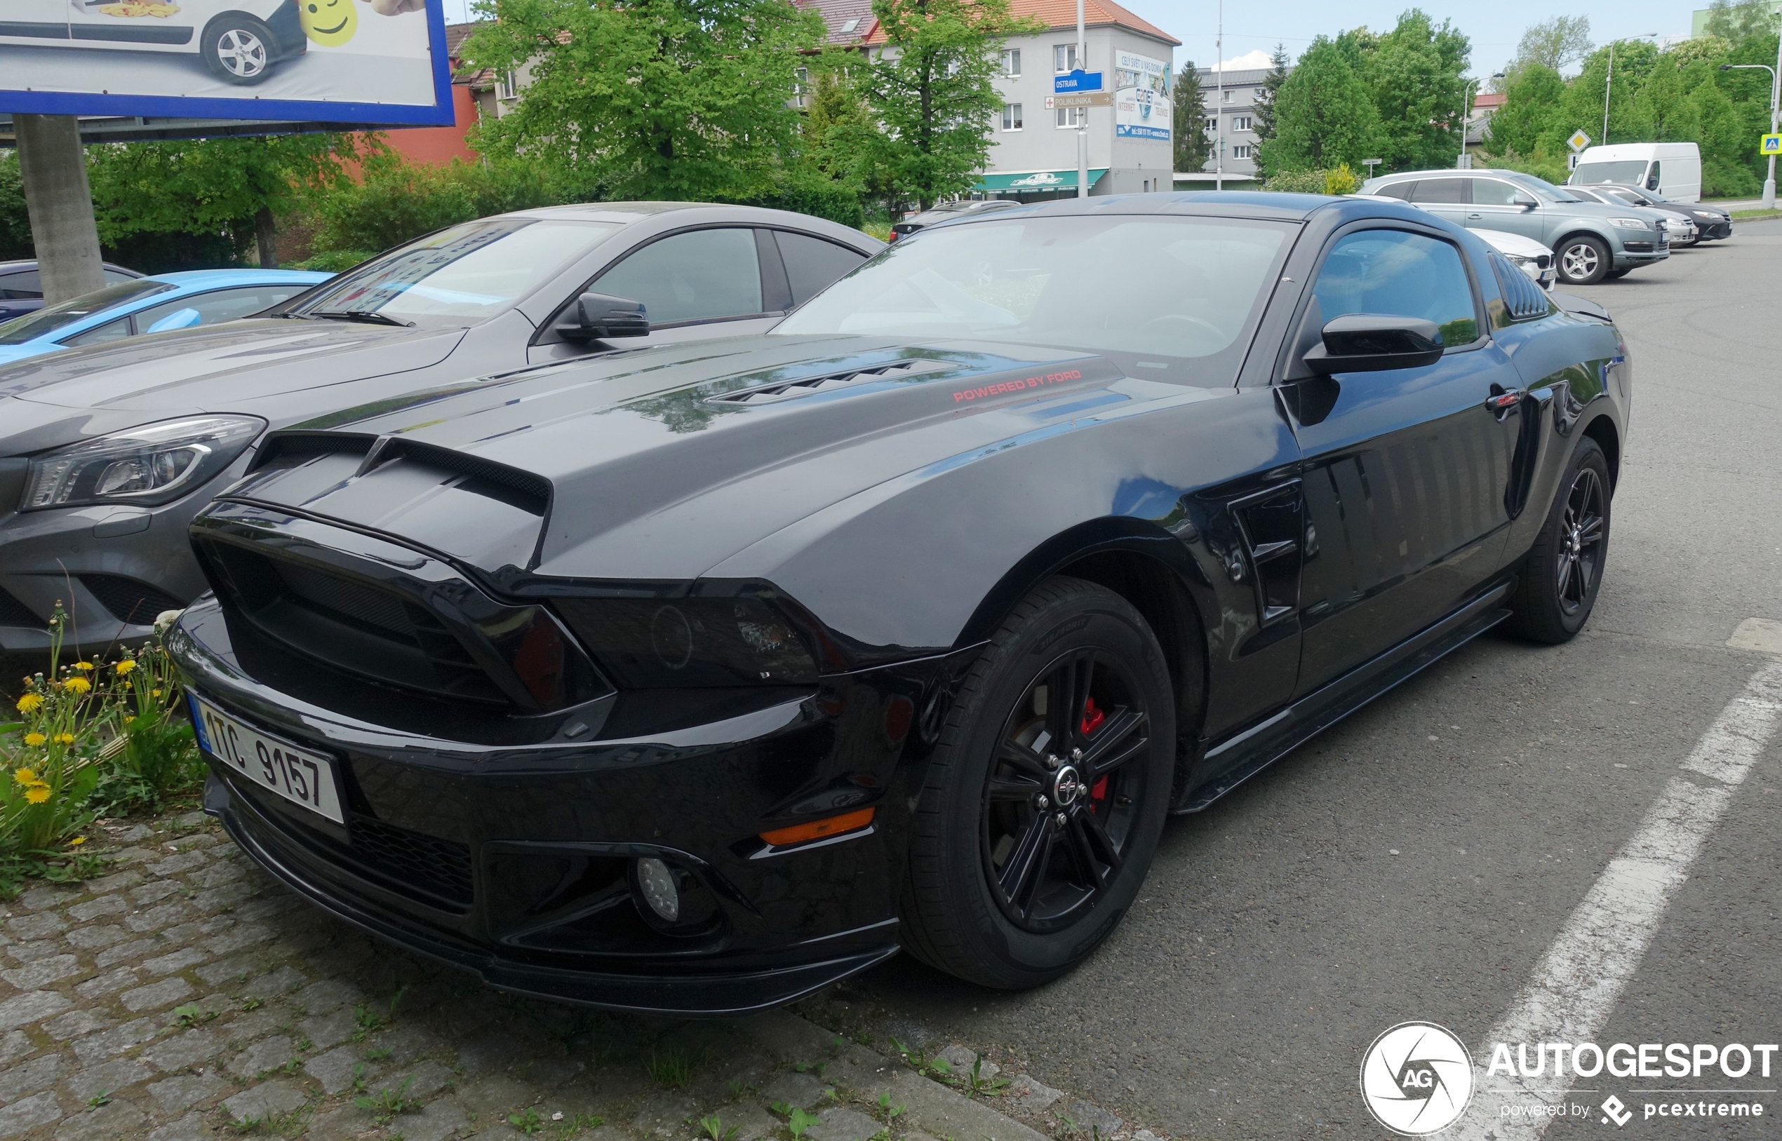
M1361 230L1336 240L1312 287L1319 317L1422 317L1449 349L1479 340L1479 315L1459 251L1402 230Z

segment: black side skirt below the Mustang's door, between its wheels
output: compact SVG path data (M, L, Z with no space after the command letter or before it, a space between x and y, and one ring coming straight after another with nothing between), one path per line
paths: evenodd
M1502 605L1509 586L1504 582L1486 591L1427 630L1408 637L1372 662L1356 666L1267 721L1210 744L1201 764L1210 762L1222 771L1181 794L1173 812L1181 815L1212 806L1312 737L1509 618L1509 611Z

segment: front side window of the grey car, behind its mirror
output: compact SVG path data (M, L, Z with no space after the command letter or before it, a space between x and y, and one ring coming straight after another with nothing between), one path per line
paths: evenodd
M693 230L650 242L590 285L642 301L652 326L761 312L761 256L752 230Z

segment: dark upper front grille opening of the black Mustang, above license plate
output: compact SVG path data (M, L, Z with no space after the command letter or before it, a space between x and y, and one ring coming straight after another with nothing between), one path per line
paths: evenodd
M201 543L226 612L282 650L453 701L510 705L428 607L326 568Z

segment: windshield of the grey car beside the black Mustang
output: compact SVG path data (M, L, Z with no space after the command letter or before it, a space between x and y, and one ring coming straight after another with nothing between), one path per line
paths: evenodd
M617 230L494 217L429 233L308 294L296 315L494 317Z

